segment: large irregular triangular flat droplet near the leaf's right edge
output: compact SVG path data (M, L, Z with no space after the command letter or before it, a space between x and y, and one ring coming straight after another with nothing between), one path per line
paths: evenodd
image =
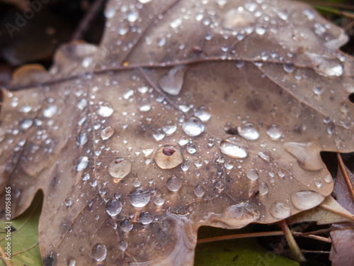
M293 155L304 170L319 171L324 167L318 143L285 143L282 148Z

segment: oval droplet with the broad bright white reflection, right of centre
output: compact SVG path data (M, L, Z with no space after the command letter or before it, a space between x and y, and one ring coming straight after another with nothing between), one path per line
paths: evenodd
M249 145L239 137L229 137L222 140L220 151L234 158L246 158L249 155Z

